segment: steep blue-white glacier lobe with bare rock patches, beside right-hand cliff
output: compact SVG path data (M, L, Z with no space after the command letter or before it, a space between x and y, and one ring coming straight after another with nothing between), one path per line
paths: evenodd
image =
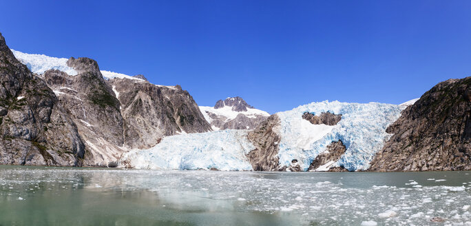
M390 137L386 128L401 115L406 106L386 103L340 103L323 101L301 105L293 110L278 112L281 125L277 128L281 136L279 144L280 165L290 165L293 159L308 170L313 159L326 150L333 141L341 140L346 152L335 166L347 170L366 170L384 141ZM342 114L337 125L313 125L302 119L309 112Z

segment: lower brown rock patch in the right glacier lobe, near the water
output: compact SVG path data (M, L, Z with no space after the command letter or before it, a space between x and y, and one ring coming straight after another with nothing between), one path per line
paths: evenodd
M322 152L315 157L314 161L311 163L311 165L309 165L308 171L329 170L331 165L328 165L328 163L335 163L337 160L339 160L342 154L345 153L345 150L346 147L342 141L339 140L332 142L327 146L325 152Z

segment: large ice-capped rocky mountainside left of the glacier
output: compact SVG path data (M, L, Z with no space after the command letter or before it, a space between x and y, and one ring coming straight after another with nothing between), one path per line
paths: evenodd
M6 45L2 50L7 57L4 62L8 63L0 68L6 74L2 79L9 80L2 83L6 84L6 99L0 106L4 116L0 118L6 120L3 125L9 130L16 130L13 133L4 129L3 134L8 142L19 136L33 143L22 144L14 139L14 145L4 145L0 156L8 158L0 157L0 163L114 167L127 150L151 147L163 136L211 130L198 105L179 85L153 85L143 75L101 71L96 61L87 58L57 59L15 51L20 63ZM33 76L22 63L39 75ZM12 103L22 106L14 107L22 108L21 116L10 107ZM10 125L10 114L25 118L21 119L24 125L16 121L16 127ZM50 121L60 130L52 127ZM32 151L21 145L32 146ZM14 149L17 146L21 153ZM36 159L38 155L32 158L34 150L41 152L46 161L38 160L43 157ZM9 160L13 158L10 156L32 160L23 163Z

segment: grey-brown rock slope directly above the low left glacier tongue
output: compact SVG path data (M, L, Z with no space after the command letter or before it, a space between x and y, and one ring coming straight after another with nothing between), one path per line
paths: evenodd
M118 78L108 82L121 103L126 147L144 149L164 136L211 131L193 97L180 85Z

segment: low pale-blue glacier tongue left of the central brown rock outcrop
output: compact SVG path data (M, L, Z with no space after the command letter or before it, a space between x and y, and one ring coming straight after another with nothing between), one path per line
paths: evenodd
M167 136L148 150L133 150L125 161L138 169L252 170L245 156L255 147L247 130L221 130Z

